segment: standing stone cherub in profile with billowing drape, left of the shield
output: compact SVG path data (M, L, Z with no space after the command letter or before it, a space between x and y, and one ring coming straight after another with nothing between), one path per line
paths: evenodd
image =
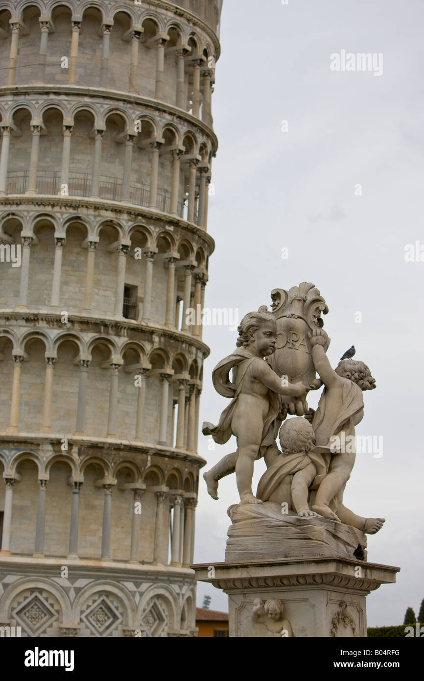
M208 492L217 497L218 481L235 471L240 503L262 503L252 493L255 460L264 456L275 441L276 419L280 414L279 395L284 402L297 402L306 396L304 383L282 381L264 358L276 349L276 319L271 313L252 312L243 317L238 327L237 349L219 362L212 373L216 392L231 397L221 414L218 426L203 423L203 434L220 445L231 435L237 438L237 452L225 456L211 471L203 475ZM233 382L229 372L233 369Z

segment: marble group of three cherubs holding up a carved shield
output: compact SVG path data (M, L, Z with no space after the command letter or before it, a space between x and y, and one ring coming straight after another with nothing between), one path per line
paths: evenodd
M351 511L343 494L355 464L352 443L363 419L363 392L374 390L376 381L356 359L331 367L321 318L328 307L313 284L274 289L271 298L272 311L261 306L244 316L237 348L212 373L215 390L231 402L218 425L203 424L203 434L218 444L234 435L237 449L203 475L208 492L218 498L219 480L235 473L240 503L229 509L233 522L246 519L240 511L249 511L250 518L269 515L274 522L278 512L280 522L284 514L295 516L297 530L319 518L355 528L358 537L374 534L384 518ZM321 387L314 411L308 392ZM262 457L267 470L253 494L253 469Z

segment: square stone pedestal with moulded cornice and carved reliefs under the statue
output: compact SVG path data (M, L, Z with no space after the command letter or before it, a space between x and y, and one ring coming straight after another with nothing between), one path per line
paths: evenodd
M366 636L365 596L380 584L394 584L399 571L340 557L215 563L193 569L198 581L228 594L231 637ZM266 615L252 619L257 599L264 605L270 599L282 603L282 622L289 622L282 633Z

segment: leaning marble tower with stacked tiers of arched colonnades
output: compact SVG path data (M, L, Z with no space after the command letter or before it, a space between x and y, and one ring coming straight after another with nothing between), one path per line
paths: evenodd
M0 0L0 626L195 635L222 0ZM190 319L193 322L193 319Z

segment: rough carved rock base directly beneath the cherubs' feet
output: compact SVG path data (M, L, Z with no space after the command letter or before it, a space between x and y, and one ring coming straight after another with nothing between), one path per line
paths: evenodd
M358 552L366 560L364 533L335 520L299 518L291 510L283 514L272 501L235 504L228 515L233 524L227 533L225 563L261 560L263 556L267 560L326 556L355 560Z

